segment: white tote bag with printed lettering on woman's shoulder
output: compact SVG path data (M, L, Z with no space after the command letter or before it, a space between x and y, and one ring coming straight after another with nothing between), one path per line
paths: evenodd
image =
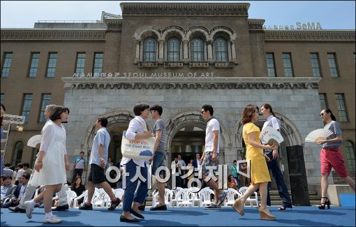
M144 138L141 140L129 140L126 138L126 131L122 133L121 154L130 159L149 160L153 154L154 137Z

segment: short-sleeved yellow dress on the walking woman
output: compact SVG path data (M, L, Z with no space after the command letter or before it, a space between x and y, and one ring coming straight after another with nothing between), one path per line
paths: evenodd
M255 142L260 144L260 129L255 124L249 122L242 128L242 137L246 144L246 160L251 160L251 183L270 182L269 170L267 167L263 149L249 145L249 133L256 132Z

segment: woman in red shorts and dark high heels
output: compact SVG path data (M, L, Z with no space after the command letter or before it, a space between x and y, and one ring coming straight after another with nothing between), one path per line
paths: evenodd
M331 136L328 136L325 140L318 140L317 142L319 145L322 145L320 151L322 197L319 209L324 210L325 206L327 206L328 209L330 207L330 201L327 198L327 187L329 186L327 177L329 177L332 168L353 188L353 191L355 191L355 181L348 175L341 154L340 145L343 138L341 136L340 124L336 122L336 118L330 109L322 110L320 117L326 123L324 129L332 131Z

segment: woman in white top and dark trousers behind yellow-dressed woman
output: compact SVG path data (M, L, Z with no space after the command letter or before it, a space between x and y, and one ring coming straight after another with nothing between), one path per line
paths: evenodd
M265 129L267 126L270 126L273 129L276 129L276 131L281 131L281 122L274 115L271 105L269 105L268 103L263 104L261 106L261 114L263 115L263 117L267 119L265 124L263 124L262 130ZM285 208L288 207L292 208L292 201L290 200L288 188L284 182L281 168L279 168L279 163L278 163L279 149L278 148L274 150L265 149L264 153L270 159L270 161L267 162L267 166L268 169L271 170L272 172L272 176L276 181L279 196L282 199L282 205L281 207L278 208L278 210L285 210ZM269 186L267 188L267 205L269 206L271 205L271 199L269 197Z

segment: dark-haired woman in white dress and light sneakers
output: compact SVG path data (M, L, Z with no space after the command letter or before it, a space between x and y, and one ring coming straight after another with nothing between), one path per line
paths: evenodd
M46 186L46 189L33 200L24 203L26 214L32 218L34 206L43 200L45 204L44 223L60 223L52 214L53 194L61 190L61 185L66 183L66 170L69 170L68 157L66 154L66 130L62 122L66 122L68 110L61 105L56 105L51 121L43 126L43 134L40 142L40 151L35 162L35 173L31 183Z

